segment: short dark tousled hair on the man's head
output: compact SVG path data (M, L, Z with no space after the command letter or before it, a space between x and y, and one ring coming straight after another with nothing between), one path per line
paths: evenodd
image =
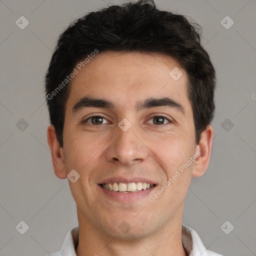
M187 96L193 110L195 143L198 144L215 109L215 70L200 44L200 29L183 15L157 9L153 0L112 5L73 21L59 36L45 75L50 122L61 147L69 94L66 77L77 61L95 49L99 52L155 52L179 61L188 76Z

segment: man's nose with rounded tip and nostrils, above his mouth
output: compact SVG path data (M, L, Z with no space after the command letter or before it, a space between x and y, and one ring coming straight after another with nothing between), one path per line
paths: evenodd
M146 159L148 148L138 130L134 125L126 131L117 126L115 136L106 149L107 160L121 165L131 165Z

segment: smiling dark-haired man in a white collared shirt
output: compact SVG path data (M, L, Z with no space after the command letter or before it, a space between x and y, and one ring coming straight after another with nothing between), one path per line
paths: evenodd
M47 136L79 226L51 255L219 255L182 223L209 162L214 88L195 27L153 1L91 12L60 35Z

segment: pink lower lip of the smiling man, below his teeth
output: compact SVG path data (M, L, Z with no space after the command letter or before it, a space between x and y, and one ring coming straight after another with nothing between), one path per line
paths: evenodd
M108 197L115 199L117 201L127 202L127 201L135 201L146 196L148 197L148 195L155 189L156 185L146 190L139 190L137 192L127 192L127 193L110 191L103 188L101 185L98 185L98 187Z

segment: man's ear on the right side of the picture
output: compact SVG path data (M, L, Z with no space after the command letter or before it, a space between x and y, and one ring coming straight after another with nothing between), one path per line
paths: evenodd
M192 176L200 177L206 171L209 159L210 159L210 151L211 151L211 142L213 138L213 129L209 124L206 129L201 133L201 138L196 145L196 152L200 152L200 155L195 159L193 165Z

